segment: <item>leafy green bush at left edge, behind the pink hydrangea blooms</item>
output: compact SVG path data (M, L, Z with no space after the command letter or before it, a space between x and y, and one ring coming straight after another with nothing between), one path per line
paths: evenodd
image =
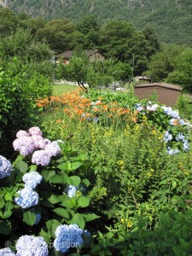
M0 125L1 125L1 154L12 152L11 143L15 132L32 124L37 115L36 100L49 96L52 84L44 75L34 72L31 77L26 67L20 67L20 61L3 61L0 79Z

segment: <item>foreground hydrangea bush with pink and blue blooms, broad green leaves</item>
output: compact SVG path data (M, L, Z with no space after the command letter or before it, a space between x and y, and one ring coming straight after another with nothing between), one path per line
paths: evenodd
M86 222L98 218L86 211L89 197L76 193L79 187L90 185L88 179L79 177L85 155L62 141L49 141L38 127L18 131L13 145L20 153L13 165L0 155L0 234L6 235L13 250L2 248L0 255L79 251L83 234L88 232ZM65 234L57 227L64 227Z

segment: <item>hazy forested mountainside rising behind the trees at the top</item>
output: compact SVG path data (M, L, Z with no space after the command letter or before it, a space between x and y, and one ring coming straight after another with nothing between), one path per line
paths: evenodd
M95 15L97 22L129 20L137 29L154 26L161 42L192 42L192 3L190 0L2 0L3 7L16 13L46 19L81 20Z

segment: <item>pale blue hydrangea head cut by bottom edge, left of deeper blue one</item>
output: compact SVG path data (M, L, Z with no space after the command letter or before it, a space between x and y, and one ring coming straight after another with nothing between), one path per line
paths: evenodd
M16 242L17 256L48 256L48 245L41 236L20 236Z

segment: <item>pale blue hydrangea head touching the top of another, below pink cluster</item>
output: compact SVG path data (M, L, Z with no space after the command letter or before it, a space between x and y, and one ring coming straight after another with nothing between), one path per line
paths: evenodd
M25 186L31 189L35 189L42 179L43 177L38 172L28 172L22 177L23 182L26 183Z

